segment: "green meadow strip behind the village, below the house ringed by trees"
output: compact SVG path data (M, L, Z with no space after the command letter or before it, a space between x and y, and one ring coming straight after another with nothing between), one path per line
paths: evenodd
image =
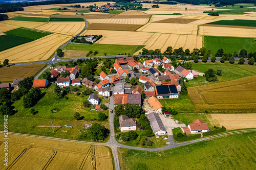
M78 51L97 51L98 54L91 54L89 57L94 56L104 56L106 53L107 56L118 55L118 54L133 54L140 48L144 47L143 45L112 45L112 44L68 44L63 50L78 50Z

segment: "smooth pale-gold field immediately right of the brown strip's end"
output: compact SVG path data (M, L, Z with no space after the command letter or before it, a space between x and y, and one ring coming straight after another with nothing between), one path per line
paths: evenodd
M150 23L147 23L145 26L139 28L137 31L197 35L197 25L182 24L182 23L150 22Z

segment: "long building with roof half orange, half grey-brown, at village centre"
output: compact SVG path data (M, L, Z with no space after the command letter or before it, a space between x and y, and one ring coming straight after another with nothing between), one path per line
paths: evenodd
M126 103L141 105L140 94L114 94L114 105L125 105Z

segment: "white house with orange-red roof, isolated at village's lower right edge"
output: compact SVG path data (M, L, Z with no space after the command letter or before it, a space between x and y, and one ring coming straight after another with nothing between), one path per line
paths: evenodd
M186 132L186 134L193 134L208 132L209 128L202 120L196 119L193 121L193 124L188 124L187 127L181 127L181 130L183 133Z

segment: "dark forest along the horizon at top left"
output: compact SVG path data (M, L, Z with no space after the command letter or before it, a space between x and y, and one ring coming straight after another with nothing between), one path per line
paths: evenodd
M36 6L36 5L51 5L51 4L74 4L74 3L93 3L100 2L101 0L57 0L57 1L42 1L42 2L27 2L27 3L15 3L15 4L1 4L0 13L24 11L23 7ZM111 0L112 2L131 2L131 0Z

